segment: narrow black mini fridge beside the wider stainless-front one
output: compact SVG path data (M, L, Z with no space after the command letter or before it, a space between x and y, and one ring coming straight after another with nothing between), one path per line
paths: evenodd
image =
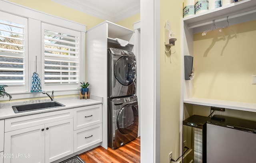
M193 115L183 121L183 163L206 163L206 122L209 117Z

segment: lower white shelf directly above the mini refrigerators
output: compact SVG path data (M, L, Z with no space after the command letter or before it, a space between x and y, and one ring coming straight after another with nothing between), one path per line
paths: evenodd
M256 103L214 100L206 98L189 98L184 100L184 103L256 112Z

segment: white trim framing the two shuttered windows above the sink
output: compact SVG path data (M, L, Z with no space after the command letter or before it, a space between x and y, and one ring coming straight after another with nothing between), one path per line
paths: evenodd
M33 72L35 71L35 56L37 57L37 72L41 72L41 22L52 24L60 27L65 27L68 29L76 30L81 32L81 67L80 67L80 81L85 81L86 77L86 62L85 62L85 45L86 45L86 25L80 24L77 22L72 22L70 20L65 20L63 18L59 18L56 16L52 16L50 14L45 14L42 12L38 12L36 10L32 10L30 8L26 8L24 6L20 6L17 4L13 4L12 2L8 2L7 0L0 0L0 11L7 12L9 14L14 14L17 16L21 16L24 18L28 18L28 29L33 29L28 31L28 57L29 57L29 71L28 71L28 80L26 84L28 84L27 91L25 92L12 92L12 99L21 99L21 98L35 98L35 97L44 97L45 95L42 92L30 92L31 89L31 77ZM39 36L39 37L36 37ZM40 41L38 41L39 39ZM40 78L42 79L41 74ZM79 83L78 83L79 86ZM47 91L47 90L46 90ZM48 90L50 91L50 90ZM8 92L8 87L6 88L6 92ZM68 94L78 94L78 89L67 90L63 88L63 90L58 90L54 92L54 95L68 95ZM8 100L7 97L4 97L0 100Z

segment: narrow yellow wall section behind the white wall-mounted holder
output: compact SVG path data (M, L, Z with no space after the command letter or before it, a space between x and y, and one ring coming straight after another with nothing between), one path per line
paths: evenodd
M180 56L183 1L160 0L160 162L169 162L169 153L177 159L180 143ZM164 27L170 21L177 41L171 52L164 45Z

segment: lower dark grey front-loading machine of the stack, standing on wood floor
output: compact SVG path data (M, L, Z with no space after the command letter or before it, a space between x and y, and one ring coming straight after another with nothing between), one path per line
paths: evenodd
M116 149L138 137L137 96L108 99L108 146Z

